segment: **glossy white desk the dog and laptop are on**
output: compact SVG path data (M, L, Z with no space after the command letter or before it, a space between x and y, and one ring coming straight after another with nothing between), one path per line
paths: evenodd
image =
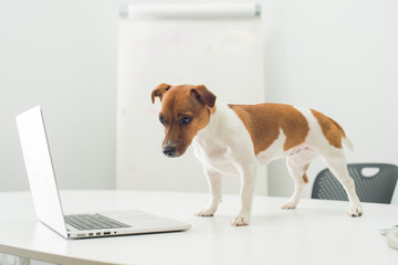
M214 218L193 213L207 194L134 191L63 191L65 212L138 209L192 224L187 232L65 240L35 221L29 192L0 193L0 252L57 264L398 264L379 229L398 223L398 208L302 200L281 210L283 198L256 197L252 223L230 225L238 197L226 195Z

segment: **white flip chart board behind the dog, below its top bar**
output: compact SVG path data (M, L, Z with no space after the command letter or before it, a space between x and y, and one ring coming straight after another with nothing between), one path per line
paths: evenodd
M224 103L264 102L261 21L249 18L123 18L118 32L116 188L207 192L192 147L179 158L161 152L160 83L205 84ZM238 176L223 180L238 193ZM266 194L265 169L256 193Z

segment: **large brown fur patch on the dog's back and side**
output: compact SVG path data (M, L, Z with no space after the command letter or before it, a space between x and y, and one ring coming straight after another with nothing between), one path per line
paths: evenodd
M281 128L286 136L284 150L304 142L310 130L306 118L291 105L264 103L229 106L248 129L255 155L269 148L277 139Z

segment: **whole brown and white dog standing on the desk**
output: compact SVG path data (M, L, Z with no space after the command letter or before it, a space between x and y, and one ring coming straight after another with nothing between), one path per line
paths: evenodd
M295 188L283 209L294 209L310 162L321 156L343 184L349 199L349 215L360 216L362 208L348 176L343 145L353 149L342 127L327 116L283 104L227 105L203 85L160 84L151 93L159 97L159 120L165 126L163 152L181 156L193 144L196 157L205 168L211 193L199 216L211 216L221 201L222 174L240 174L241 208L232 225L250 222L256 170L279 158L286 166Z

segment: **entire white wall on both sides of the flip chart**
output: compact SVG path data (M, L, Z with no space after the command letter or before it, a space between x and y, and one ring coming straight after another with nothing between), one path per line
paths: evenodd
M61 188L114 187L117 9L127 2L165 1L0 1L0 190L28 188L14 115L39 103ZM350 162L398 163L397 1L256 2L269 100L336 119L355 144ZM283 162L269 179L270 194L292 192Z

